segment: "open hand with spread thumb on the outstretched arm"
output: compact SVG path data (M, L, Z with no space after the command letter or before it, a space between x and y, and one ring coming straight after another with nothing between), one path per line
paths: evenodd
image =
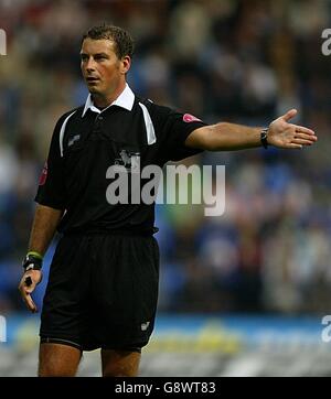
M317 141L313 130L288 122L297 112L296 109L290 109L270 123L268 131L270 145L284 149L301 149L303 145L311 145Z

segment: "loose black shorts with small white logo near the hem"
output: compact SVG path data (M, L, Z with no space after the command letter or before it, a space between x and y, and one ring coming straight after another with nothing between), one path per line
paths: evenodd
M41 342L140 352L153 330L158 282L152 236L62 237L44 296Z

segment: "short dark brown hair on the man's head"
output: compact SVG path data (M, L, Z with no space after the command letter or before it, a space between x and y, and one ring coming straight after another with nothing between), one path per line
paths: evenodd
M135 44L129 32L119 26L103 23L102 25L90 28L84 35L85 39L102 40L108 39L115 43L115 53L119 60L129 55L132 58Z

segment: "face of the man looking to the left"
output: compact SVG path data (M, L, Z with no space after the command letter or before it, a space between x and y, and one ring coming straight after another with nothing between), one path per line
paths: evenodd
M119 60L114 50L115 43L107 39L87 37L82 44L82 73L89 93L99 99L113 100L126 83L130 57Z

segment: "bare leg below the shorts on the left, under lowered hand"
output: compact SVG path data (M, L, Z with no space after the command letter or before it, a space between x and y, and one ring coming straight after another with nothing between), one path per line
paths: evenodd
M74 377L82 352L62 344L41 344L39 349L39 377Z

